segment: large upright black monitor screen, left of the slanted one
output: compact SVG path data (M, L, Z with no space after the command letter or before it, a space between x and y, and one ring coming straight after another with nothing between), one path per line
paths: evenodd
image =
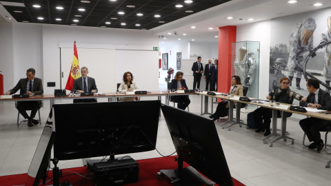
M160 105L158 100L53 105L54 158L154 150Z

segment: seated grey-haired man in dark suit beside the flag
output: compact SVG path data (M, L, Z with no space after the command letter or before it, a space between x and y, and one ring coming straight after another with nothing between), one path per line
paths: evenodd
M98 92L95 80L88 77L88 68L81 68L81 77L74 80L71 92ZM97 102L97 99L74 99L74 103L92 103Z

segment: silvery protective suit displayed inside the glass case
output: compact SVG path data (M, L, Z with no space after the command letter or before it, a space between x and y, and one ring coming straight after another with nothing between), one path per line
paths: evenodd
M244 46L239 48L238 59L234 61L234 70L243 85L249 86L254 81L255 65L254 53L249 52Z

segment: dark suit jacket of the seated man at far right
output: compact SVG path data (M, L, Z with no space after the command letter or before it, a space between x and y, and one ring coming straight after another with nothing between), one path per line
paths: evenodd
M314 94L309 94L307 97L307 102L301 101L300 106L307 107L309 103L314 103ZM318 107L319 110L331 110L331 97L328 92L325 90L319 89L318 103L321 107Z

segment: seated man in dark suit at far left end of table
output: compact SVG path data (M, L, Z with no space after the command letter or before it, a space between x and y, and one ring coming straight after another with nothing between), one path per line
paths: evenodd
M6 95L15 94L18 90L19 94L29 94L30 96L41 95L43 94L43 83L41 79L34 77L36 71L33 68L29 68L26 70L26 78L20 79L19 83L12 90L6 92ZM41 105L41 101L18 101L17 102L17 110L24 117L28 118L28 126L32 127L33 124L36 125L39 121L34 119L37 111ZM31 107L31 114L28 116L26 113L26 108Z

